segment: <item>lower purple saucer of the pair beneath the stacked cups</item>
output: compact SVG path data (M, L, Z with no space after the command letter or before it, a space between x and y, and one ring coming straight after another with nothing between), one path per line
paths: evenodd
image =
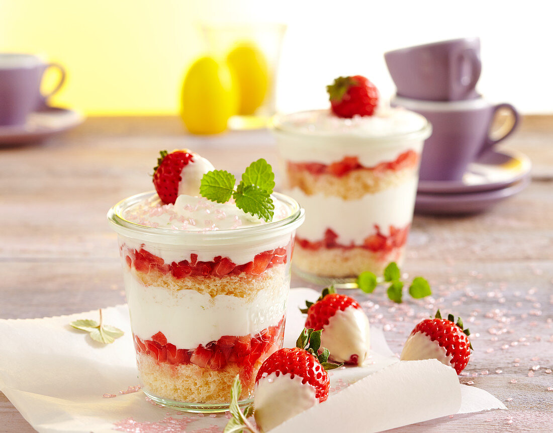
M416 196L415 213L462 215L487 210L499 201L518 194L530 183L530 176L502 189L470 194L421 194Z

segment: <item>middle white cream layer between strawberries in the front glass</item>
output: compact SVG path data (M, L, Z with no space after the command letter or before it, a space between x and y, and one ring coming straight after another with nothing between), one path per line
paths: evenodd
M247 302L230 295L211 298L192 289L144 286L130 270L124 270L123 277L134 335L148 340L161 331L178 349L206 345L223 335L253 335L278 325L288 299L287 288L260 290Z

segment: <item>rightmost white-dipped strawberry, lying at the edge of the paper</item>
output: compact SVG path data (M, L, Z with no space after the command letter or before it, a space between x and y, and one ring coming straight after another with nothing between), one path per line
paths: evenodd
M461 317L455 322L450 314L442 319L440 310L434 319L425 319L415 326L403 346L400 359L437 359L446 366L455 368L457 374L467 366L472 345L468 340L470 332L463 329Z

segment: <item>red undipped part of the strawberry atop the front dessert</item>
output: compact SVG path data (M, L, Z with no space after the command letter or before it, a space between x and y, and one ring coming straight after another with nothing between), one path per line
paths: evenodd
M190 161L194 162L194 156L187 150L174 150L171 153L161 150L160 155L158 165L154 167L155 190L165 204L175 204L182 180L182 168Z

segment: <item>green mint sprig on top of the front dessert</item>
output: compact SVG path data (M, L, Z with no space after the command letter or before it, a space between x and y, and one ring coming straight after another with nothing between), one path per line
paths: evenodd
M236 178L232 173L226 170L208 171L202 177L200 194L217 203L226 203L232 197L239 209L265 221L272 221L274 179L270 164L261 158L246 168L236 188Z

